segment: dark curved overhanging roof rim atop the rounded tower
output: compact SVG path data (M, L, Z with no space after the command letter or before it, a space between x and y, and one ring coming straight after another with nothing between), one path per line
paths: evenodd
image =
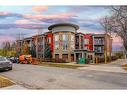
M72 23L57 23L57 24L50 25L50 26L48 27L48 30L52 30L52 28L54 28L54 27L56 27L56 26L64 26L64 25L72 26L72 27L74 27L76 30L79 29L79 26L76 25L76 24L72 24Z

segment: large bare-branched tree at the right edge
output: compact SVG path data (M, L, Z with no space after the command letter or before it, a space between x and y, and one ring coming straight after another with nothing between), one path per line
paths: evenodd
M127 6L112 6L110 10L111 16L105 17L101 24L106 32L115 33L121 37L127 51Z

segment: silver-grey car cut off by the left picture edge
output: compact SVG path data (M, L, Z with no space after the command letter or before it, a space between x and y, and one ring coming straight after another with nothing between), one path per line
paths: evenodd
M12 62L0 56L0 70L12 70Z

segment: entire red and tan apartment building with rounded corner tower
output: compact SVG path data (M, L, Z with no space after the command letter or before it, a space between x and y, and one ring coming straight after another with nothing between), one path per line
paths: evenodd
M30 54L37 58L64 59L66 62L79 58L90 59L111 55L112 39L106 34L78 33L79 26L70 23L54 24L48 32L17 41L17 50L27 42ZM105 53L106 52L106 53Z

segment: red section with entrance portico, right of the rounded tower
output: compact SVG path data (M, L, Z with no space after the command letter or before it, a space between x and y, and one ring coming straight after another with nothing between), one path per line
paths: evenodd
M91 63L94 62L94 49L93 49L93 35L76 33L76 43L74 50L74 59L77 61L79 58L90 59Z

